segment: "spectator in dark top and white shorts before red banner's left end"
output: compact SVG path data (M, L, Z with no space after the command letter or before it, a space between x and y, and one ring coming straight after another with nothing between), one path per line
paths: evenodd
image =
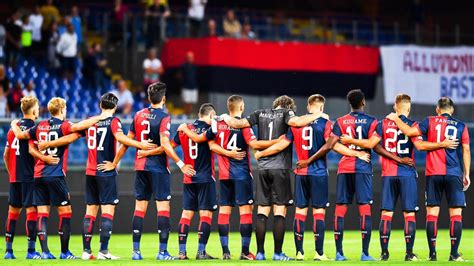
M194 53L186 53L186 62L181 66L182 78L181 100L186 115L193 114L193 107L198 103L199 90L197 84L197 69L194 64Z

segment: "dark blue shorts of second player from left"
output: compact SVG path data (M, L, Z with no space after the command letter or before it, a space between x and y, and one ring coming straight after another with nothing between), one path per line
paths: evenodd
M64 176L35 178L33 205L67 206L70 205L69 188Z

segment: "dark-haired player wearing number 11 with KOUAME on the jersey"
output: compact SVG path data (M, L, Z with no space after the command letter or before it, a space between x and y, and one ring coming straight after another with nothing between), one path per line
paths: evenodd
M376 135L377 119L364 113L365 96L361 90L351 90L347 94L347 100L351 106L351 112L336 120L333 126L331 137L326 145L333 147L334 144L344 134L357 139L370 139ZM346 145L348 148L359 151L367 151L355 145ZM380 147L379 147L380 148ZM385 156L389 156L402 162L397 156L384 151ZM411 164L412 160L404 160ZM334 238L336 242L336 260L347 260L342 249L344 236L344 216L347 212L347 205L352 204L354 194L356 194L359 204L360 230L362 234L362 254L361 261L373 261L369 255L369 244L372 235L372 165L370 162L360 160L355 157L343 156L339 161L337 171L337 189L336 189L336 210L334 217Z

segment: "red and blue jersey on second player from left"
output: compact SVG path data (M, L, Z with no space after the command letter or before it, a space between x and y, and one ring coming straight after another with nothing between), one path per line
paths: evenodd
M30 139L36 142L53 141L71 133L71 122L51 117L48 120L39 122L28 131ZM44 151L47 155L59 158L57 165L49 165L41 160L36 160L35 178L66 176L68 146L48 148Z

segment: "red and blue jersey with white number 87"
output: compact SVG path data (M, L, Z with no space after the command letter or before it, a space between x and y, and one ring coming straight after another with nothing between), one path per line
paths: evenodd
M122 124L117 117L108 117L90 127L85 133L87 138L87 167L86 175L114 176L117 171L102 172L97 170L97 164L104 161L113 162L117 152L117 140L114 135L122 132Z

